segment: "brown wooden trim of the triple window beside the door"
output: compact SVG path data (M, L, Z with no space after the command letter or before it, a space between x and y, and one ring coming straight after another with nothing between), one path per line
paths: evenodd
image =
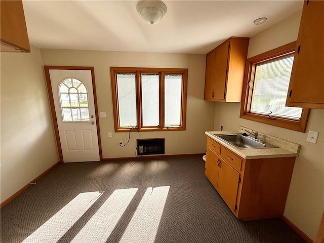
M136 108L137 108L137 126L140 132L152 131L183 131L186 130L186 110L187 110L187 83L188 69L185 68L137 68L137 67L110 67L112 106L114 117L115 132L129 132L130 128L119 127L119 114L117 102L117 73L135 73L136 77ZM141 73L159 74L159 127L142 126L142 97L141 97ZM164 80L166 74L182 74L182 100L181 100L181 118L179 127L164 127ZM137 129L131 129L131 132L137 132Z

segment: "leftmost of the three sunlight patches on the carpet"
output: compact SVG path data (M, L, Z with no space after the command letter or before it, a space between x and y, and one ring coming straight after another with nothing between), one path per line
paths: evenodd
M22 242L57 242L103 193L94 191L78 194Z

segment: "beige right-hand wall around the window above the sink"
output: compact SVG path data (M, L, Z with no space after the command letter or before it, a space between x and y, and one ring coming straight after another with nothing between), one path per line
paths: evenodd
M301 13L250 39L248 57L296 41ZM324 209L324 110L312 109L306 133L239 118L240 103L217 102L214 130L236 130L238 125L302 145L296 159L284 216L311 239L315 238ZM319 132L316 144L306 142L308 131Z

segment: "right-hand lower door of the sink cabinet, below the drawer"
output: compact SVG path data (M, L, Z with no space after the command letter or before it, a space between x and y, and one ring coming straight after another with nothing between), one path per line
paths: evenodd
M228 207L234 212L236 205L239 173L224 160L221 160L217 191L223 197Z

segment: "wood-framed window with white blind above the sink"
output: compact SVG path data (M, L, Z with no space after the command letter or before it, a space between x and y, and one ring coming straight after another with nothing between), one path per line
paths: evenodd
M286 106L295 44L247 60L241 118L305 132L309 109Z

